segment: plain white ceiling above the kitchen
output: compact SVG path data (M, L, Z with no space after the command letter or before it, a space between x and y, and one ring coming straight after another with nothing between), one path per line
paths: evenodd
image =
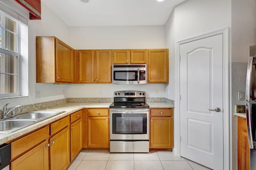
M41 0L68 26L164 25L185 0Z

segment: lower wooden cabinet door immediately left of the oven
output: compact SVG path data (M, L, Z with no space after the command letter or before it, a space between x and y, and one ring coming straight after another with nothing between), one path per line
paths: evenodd
M108 117L88 117L88 147L109 147Z

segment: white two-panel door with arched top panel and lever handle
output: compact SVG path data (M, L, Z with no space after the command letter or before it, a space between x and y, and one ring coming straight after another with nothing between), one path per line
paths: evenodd
M223 34L180 45L180 153L223 170Z

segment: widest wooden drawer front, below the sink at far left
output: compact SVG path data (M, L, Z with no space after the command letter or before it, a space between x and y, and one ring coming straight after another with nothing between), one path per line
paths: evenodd
M11 159L48 139L49 126L39 129L11 143Z

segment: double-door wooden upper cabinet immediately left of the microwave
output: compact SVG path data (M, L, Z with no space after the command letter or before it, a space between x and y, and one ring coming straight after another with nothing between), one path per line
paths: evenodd
M78 83L111 83L111 50L79 50Z

